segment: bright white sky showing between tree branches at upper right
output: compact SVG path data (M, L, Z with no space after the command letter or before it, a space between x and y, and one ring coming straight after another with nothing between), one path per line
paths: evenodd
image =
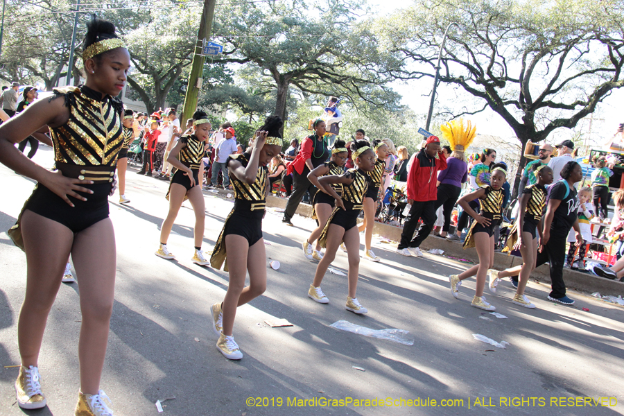
M388 14L401 8L407 8L413 1L411 0L369 0L371 6L379 11L379 14ZM442 40L440 33L440 40ZM429 101L431 100L431 89L433 87L433 78L423 80L410 80L407 83L394 83L392 85L395 90L399 91L402 103L408 105L417 114L426 114L428 112ZM462 97L465 97L463 93ZM437 86L437 100L434 104L433 114L440 110L440 104L453 103L458 100L458 94L455 87L440 83ZM622 108L624 103L624 88L616 89L611 96L607 97L603 103L598 105L596 112L593 113L593 120L590 123L590 117L579 121L576 130L589 133L591 125L591 139L595 142L602 142L614 135L619 123L624 123L624 115ZM474 103L466 103L469 109L480 109L485 102L476 100ZM496 114L489 108L484 112L473 116L465 116L477 126L478 135L491 135L501 137L506 141L516 141L513 130L510 128L499 114ZM423 126L424 127L424 126ZM559 128L548 136L546 141L554 143L563 139L569 139L573 135L573 130L567 128Z

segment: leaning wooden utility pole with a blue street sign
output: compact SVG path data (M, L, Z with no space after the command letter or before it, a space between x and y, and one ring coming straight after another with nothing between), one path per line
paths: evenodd
M184 96L184 111L180 125L186 125L187 120L193 116L197 108L197 98L202 87L202 73L204 72L205 56L202 55L204 40L210 36L212 31L212 19L214 18L214 6L216 0L204 0L204 10L202 10L202 20L197 33L195 53L193 53L193 64L191 64L191 75L187 84L187 94Z

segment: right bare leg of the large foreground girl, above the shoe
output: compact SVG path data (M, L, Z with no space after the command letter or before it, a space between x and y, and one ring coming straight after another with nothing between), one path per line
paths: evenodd
M114 301L116 249L110 218L76 234L71 249L80 288L80 391L97 395Z

